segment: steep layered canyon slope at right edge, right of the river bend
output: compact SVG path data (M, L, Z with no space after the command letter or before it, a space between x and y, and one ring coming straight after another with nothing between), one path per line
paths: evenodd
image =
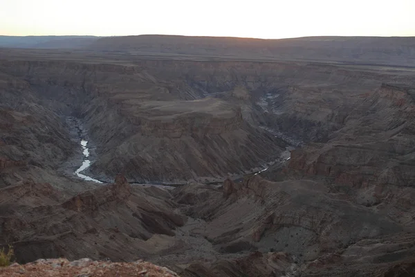
M329 177L333 190L413 225L414 107L412 87L383 84L360 101L333 139L293 151L289 168Z

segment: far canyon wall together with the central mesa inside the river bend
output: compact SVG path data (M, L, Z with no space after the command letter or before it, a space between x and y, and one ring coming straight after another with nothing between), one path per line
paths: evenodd
M241 174L273 161L284 147L258 125L297 141L325 142L382 80L412 82L405 71L299 62L127 65L12 57L1 62L1 71L10 76L6 84L24 84L21 89L54 116L82 118L100 157L91 174L108 180L123 171L135 181ZM236 88L249 97L234 94ZM228 161L215 165L223 160L218 155Z

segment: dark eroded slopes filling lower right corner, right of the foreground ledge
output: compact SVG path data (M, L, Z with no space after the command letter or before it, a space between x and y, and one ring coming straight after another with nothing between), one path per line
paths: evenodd
M400 276L413 270L413 227L329 190L315 181L258 176L225 181L222 192L194 185L175 190L183 212L201 222L189 226L190 234L203 235L223 258L192 265L178 260L174 269L181 276Z

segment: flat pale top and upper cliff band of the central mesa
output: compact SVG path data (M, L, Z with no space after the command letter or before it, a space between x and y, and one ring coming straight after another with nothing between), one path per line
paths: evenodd
M243 121L241 109L225 104L221 100L203 99L172 103L169 107L156 107L157 114L142 118L141 132L145 136L177 139L181 136L204 136L221 134L241 127ZM181 107L179 105L188 105ZM198 106L203 106L199 110ZM176 109L176 114L171 114Z

